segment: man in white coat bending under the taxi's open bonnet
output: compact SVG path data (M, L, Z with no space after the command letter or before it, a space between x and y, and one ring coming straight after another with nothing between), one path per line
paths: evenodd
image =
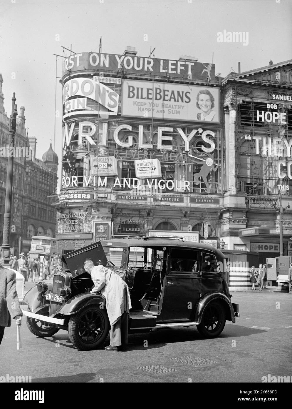
M128 315L129 309L132 308L127 283L118 274L102 264L95 266L90 258L85 260L83 267L91 274L95 285L91 293L100 292L106 299L111 330L109 333L110 345L106 346L105 350L119 351L123 344L127 344Z

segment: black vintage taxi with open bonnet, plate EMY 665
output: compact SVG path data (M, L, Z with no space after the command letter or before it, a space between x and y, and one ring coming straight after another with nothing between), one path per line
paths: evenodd
M107 265L128 284L129 333L196 326L203 337L217 337L226 320L239 317L220 250L179 237L124 237L67 253L53 283L40 281L27 292L28 311L23 312L33 334L51 337L60 328L68 330L80 350L105 341L110 328L106 300L90 293L94 283L83 268L86 258Z

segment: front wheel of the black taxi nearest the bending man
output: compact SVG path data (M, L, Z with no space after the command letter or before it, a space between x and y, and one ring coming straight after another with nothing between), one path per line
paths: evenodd
M109 334L109 328L107 312L98 304L87 306L70 317L68 333L70 341L76 348L80 351L89 351L103 344Z

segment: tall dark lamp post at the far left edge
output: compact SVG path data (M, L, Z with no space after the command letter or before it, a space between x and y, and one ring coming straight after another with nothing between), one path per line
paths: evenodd
M15 92L13 92L12 110L9 120L9 148L14 148L14 136L16 133L16 117L17 106ZM13 150L12 150L13 151ZM10 228L11 228L11 204L12 204L12 183L13 183L13 152L10 153L7 160L7 178L6 178L6 196L3 224L3 242L2 242L2 257L4 265L9 266L10 261Z

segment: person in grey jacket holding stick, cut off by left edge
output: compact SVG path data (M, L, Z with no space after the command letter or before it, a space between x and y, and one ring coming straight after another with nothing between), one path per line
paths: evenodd
M5 327L11 326L11 318L20 326L22 315L16 292L16 274L4 268L0 260L0 344Z

